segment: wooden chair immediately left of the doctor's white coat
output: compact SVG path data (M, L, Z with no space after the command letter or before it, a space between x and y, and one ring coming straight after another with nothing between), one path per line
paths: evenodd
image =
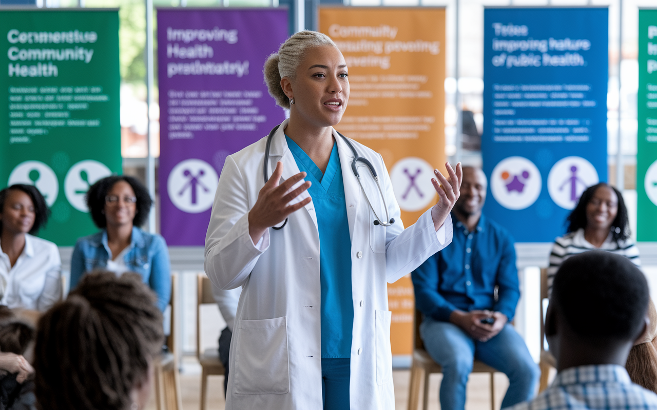
M208 396L208 376L223 375L225 371L223 364L219 360L219 351L217 348L209 348L201 352L201 305L216 304L212 296L212 283L204 274L198 277L198 298L196 299L196 358L203 369L201 375L201 410L206 409Z

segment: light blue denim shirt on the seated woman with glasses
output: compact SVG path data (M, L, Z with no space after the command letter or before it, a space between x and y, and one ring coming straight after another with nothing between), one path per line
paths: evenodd
M78 285L85 272L105 268L110 255L107 230L79 238L71 259L71 289ZM125 266L140 274L144 283L155 291L157 306L164 312L171 298L171 267L164 238L133 227Z

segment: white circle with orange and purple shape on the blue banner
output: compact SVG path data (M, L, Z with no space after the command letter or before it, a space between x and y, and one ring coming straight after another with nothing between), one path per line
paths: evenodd
M491 192L507 209L525 209L541 194L541 173L525 157L507 157L499 161L491 173Z

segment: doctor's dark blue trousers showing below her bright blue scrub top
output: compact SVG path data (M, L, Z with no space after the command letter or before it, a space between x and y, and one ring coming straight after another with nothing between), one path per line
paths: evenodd
M349 410L351 359L322 359L324 410Z

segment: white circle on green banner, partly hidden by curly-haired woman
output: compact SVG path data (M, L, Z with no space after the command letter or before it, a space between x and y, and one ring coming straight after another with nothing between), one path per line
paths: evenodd
M74 164L64 178L64 194L68 203L80 212L89 212L85 195L97 180L110 176L112 171L103 163L85 159Z

